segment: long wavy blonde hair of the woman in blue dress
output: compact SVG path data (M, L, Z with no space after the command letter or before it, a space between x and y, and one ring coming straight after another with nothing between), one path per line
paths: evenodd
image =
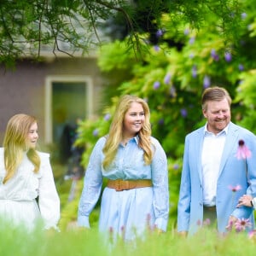
M125 113L128 111L129 108L131 108L132 102L140 103L143 106L145 121L143 123L143 128L138 132L138 145L140 148L143 148L143 157L145 164L149 165L152 161L153 150L150 141L151 125L149 122L150 112L148 108L148 103L137 96L125 95L119 99L119 103L117 104L115 113L113 114L113 120L110 125L107 141L104 148L102 149L103 153L105 154L105 159L102 162L102 166L104 167L104 169L106 169L111 164L117 153L119 143L122 141Z

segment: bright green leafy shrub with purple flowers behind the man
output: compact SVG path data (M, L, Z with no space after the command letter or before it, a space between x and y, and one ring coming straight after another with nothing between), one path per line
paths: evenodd
M93 122L84 120L79 126L77 143L89 144L84 165L96 140L108 133L118 96L143 97L151 110L153 136L168 156L171 216L175 221L184 137L205 124L201 92L212 85L229 90L234 99L232 120L256 132L254 13L251 1L183 1L171 13L160 16L154 44L149 40L150 32L139 34L140 44L148 49L142 52L143 61L135 60L126 40L103 45L99 57L102 72L123 80L114 86L117 90L102 116ZM195 26L189 20L198 23Z

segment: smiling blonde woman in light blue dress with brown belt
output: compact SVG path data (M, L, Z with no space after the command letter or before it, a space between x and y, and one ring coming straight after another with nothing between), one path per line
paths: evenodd
M147 102L122 96L108 136L101 137L91 155L79 201L78 225L90 228L102 180L99 230L124 240L148 229L166 231L169 213L167 160L158 140L151 137Z

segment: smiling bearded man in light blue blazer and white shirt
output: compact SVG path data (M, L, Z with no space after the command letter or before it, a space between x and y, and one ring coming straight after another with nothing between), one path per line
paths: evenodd
M256 196L256 137L230 121L224 88L207 88L201 103L207 123L185 138L177 231L194 234L212 216L220 233L241 218L250 218L253 228L253 207L236 206L241 195ZM239 142L247 147L241 158Z

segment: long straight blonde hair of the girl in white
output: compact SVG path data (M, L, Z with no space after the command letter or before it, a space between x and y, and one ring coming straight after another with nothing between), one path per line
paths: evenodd
M18 113L15 114L7 124L5 136L3 138L4 148L4 166L6 169L6 175L3 179L3 183L6 183L11 177L15 175L17 167L23 158L23 154L26 155L32 164L35 166L34 172L39 171L40 158L37 151L34 148L30 148L27 135L30 127L37 122L35 117Z

